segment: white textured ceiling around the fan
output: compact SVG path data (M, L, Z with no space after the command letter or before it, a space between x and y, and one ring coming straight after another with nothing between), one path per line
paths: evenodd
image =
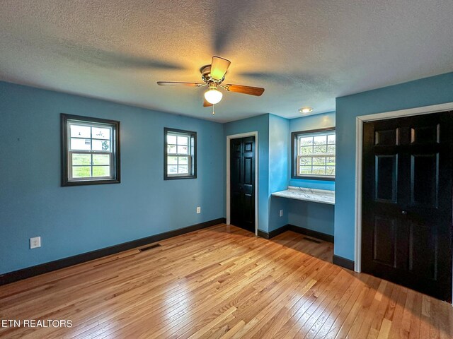
M2 0L0 79L231 121L335 109L335 97L453 71L452 0ZM231 60L216 115L200 81Z

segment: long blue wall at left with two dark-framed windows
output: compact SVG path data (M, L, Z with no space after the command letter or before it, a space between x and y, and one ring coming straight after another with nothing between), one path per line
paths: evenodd
M121 121L120 184L60 186L60 113ZM0 273L224 217L222 124L4 82L0 114ZM164 181L164 127L197 131L197 179Z

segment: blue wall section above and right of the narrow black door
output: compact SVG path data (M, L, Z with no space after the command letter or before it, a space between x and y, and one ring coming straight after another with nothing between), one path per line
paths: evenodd
M254 131L258 131L258 229L268 232L269 114L224 124L224 149L226 136Z

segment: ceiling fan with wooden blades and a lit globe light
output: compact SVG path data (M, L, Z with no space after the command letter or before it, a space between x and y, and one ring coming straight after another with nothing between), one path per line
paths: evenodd
M221 57L212 57L212 62L210 65L202 66L200 69L201 79L203 83L180 83L176 81L158 81L157 84L161 86L168 85L183 85L190 87L208 87L208 90L205 92L205 102L203 103L204 107L212 106L222 100L222 92L219 91L219 88L227 90L229 92L243 93L248 95L260 96L264 92L264 88L260 87L251 87L243 85L232 85L231 83L227 85L222 85L222 82L225 80L225 74L228 70L231 61L226 60Z

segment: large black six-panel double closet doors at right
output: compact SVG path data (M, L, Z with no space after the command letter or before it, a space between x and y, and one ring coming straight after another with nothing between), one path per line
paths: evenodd
M453 112L364 124L362 270L452 300Z

